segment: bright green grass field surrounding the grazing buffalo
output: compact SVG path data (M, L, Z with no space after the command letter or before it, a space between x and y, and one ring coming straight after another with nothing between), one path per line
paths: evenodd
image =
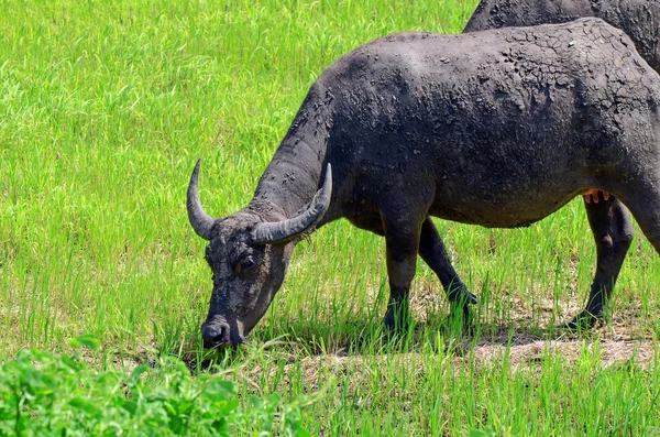
M474 337L420 261L418 325L384 340L384 240L338 221L298 245L245 347L201 348L195 160L207 210L238 210L326 66L392 32L460 33L476 2L0 1L0 361L90 335L103 368L250 362L239 393L318 394L315 436L660 431L660 260L638 229L608 324L554 329L595 266L580 199L524 230L437 221L480 298Z

